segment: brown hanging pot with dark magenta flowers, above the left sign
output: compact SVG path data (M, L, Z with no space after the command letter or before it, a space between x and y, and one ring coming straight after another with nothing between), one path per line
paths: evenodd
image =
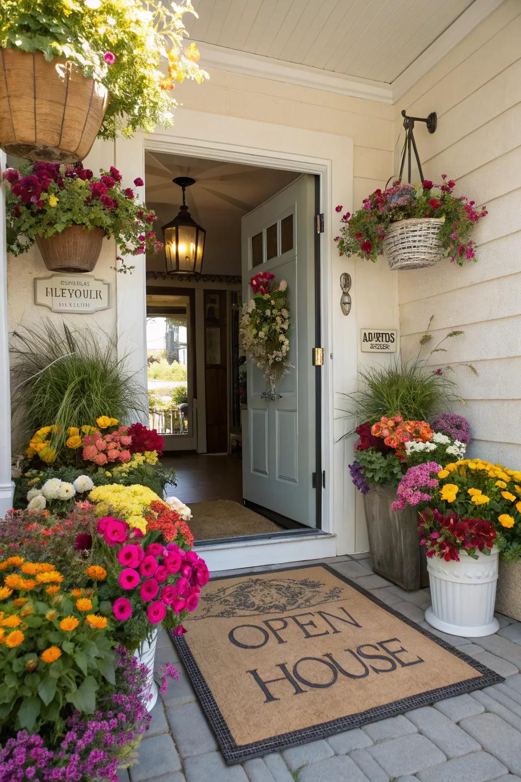
M95 177L83 163L38 162L4 173L7 189L7 246L25 253L37 242L49 271L92 271L104 237L114 237L124 254L155 253L162 247L152 223L155 213L137 203L134 188L123 188L110 167ZM141 187L137 177L134 185ZM121 256L118 271L129 271Z

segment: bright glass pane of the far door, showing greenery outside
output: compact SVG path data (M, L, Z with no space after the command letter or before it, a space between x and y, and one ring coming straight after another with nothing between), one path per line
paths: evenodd
M148 420L162 435L189 434L187 310L147 317Z

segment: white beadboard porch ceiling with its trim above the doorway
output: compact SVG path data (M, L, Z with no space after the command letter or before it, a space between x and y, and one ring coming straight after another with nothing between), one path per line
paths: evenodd
M207 70L393 102L503 0L194 0ZM411 82L412 83L412 82Z

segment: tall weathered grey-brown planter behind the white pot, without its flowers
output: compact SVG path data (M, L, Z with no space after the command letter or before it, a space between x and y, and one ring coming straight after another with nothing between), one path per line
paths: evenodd
M371 486L364 494L371 565L380 576L406 590L429 586L426 556L419 546L418 514L412 508L394 513L393 486Z

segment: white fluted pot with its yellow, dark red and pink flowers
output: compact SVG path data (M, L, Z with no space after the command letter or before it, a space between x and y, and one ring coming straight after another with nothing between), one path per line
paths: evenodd
M481 459L436 461L409 468L394 511L418 508L432 606L426 621L464 637L498 630L494 602L499 539L521 522L521 472ZM517 486L517 488L516 488Z

